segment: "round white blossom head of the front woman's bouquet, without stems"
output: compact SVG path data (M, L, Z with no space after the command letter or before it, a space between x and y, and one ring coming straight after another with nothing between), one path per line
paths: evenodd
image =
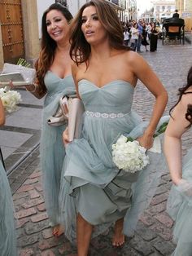
M119 169L131 173L142 170L150 163L146 148L141 147L137 140L128 141L124 135L112 145L112 158Z

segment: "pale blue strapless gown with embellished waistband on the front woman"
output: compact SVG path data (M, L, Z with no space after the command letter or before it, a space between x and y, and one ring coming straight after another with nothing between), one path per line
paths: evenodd
M147 126L131 109L133 91L123 80L102 88L85 79L79 82L84 125L81 139L66 149L59 194L61 222L70 241L76 241L78 213L94 225L93 237L119 218L124 218L124 234L132 235L155 193L164 166L162 153L149 152L151 164L136 174L118 170L112 161L111 146L120 135L135 139Z

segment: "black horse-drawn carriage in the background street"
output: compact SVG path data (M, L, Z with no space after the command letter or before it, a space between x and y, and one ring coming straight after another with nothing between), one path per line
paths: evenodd
M179 41L185 44L185 20L179 18L170 18L164 20L162 44L164 41L170 42L172 40Z

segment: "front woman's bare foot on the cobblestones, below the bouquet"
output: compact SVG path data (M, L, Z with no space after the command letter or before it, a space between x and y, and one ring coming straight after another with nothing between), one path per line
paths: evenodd
M112 239L113 246L120 247L124 245L123 227L124 227L124 218L120 218L116 221L116 224L115 224L115 232Z

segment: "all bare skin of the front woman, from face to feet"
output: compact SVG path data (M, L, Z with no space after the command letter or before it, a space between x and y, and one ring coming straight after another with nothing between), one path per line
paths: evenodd
M135 87L137 79L141 80L147 89L151 91L152 95L155 96L155 105L149 126L142 137L137 138L137 140L143 147L151 148L155 128L164 113L168 100L164 86L140 55L133 51L111 49L107 31L98 20L95 7L86 7L83 11L81 30L91 46L91 55L88 68L85 63L80 64L78 67L76 64L72 64L72 76L76 83L77 93L78 82L81 79L87 79L99 88L114 80L124 80ZM69 143L68 130L65 130L63 133L63 142L65 144ZM116 221L115 234L112 240L112 245L114 246L124 244L123 223L122 218ZM79 256L88 254L92 230L93 226L78 214L77 249Z

